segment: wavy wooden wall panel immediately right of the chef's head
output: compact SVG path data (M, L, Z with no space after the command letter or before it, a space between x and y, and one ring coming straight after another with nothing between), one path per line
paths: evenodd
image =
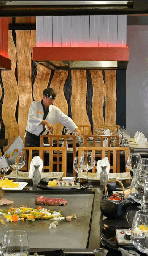
M64 95L64 85L65 85L67 76L68 76L68 71L56 70L54 72L54 76L50 84L50 87L57 92L56 99L54 100L54 105L56 107L59 107L59 109L66 115L68 114L68 104ZM53 128L54 134L55 135L62 134L63 127L64 127L63 125L59 123L55 123Z

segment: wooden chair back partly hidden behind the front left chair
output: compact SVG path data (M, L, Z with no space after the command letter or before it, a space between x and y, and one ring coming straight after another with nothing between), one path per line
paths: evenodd
M44 147L44 138L48 138L49 139L49 146L52 147L53 145L53 141L56 140L57 143L57 147L60 147L60 143L61 140L62 142L64 142L64 147L66 147L66 142L67 139L72 139L72 144L73 144L73 160L74 157L76 156L76 136L75 135L40 135L40 144L41 147ZM57 157L59 159L60 155L59 155L59 151L56 154L53 154L54 157ZM73 169L73 177L76 176L76 172Z

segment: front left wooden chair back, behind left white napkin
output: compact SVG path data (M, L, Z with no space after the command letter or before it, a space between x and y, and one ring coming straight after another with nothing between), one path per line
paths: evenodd
M28 172L29 172L30 163L32 160L32 153L33 151L37 151L39 157L43 160L43 172L45 169L48 169L49 172L53 172L53 164L57 164L57 172L59 171L64 172L63 177L67 176L66 147L24 147L24 150L29 151ZM49 153L49 165L47 166L44 165L45 152ZM59 157L57 157L57 154L55 154L55 152L58 152ZM53 161L54 156L57 157L57 161ZM61 170L60 170L60 165L61 165Z

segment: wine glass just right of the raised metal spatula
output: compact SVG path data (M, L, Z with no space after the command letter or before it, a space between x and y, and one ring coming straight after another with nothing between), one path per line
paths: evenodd
M18 181L18 170L21 169L25 165L25 155L24 152L21 151L14 162L10 165L13 169L16 169L16 181Z

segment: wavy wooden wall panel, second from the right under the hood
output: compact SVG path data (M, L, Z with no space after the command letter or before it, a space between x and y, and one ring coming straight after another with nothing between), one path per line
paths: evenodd
M94 123L93 133L98 125L104 125L103 106L105 98L105 84L102 70L91 70L93 84L92 118Z

